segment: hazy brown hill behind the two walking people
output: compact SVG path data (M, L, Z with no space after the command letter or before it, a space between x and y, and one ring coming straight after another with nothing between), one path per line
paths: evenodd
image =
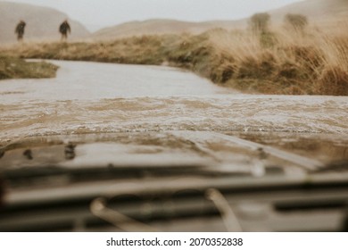
M77 21L72 21L63 12L31 4L0 2L0 43L16 41L14 29L20 20L27 23L25 40L60 39L58 27L68 19L71 26L70 39L88 37L89 31Z

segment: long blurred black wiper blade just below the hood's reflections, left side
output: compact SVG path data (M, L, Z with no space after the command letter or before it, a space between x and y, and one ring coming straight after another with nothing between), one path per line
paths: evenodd
M222 173L215 173L221 175ZM26 167L19 169L7 169L3 171L4 179L11 186L27 186L30 184L38 184L45 179L50 179L54 185L54 179L60 180L65 178L66 181L82 182L97 181L106 179L145 179L145 178L161 178L176 176L214 176L211 169L202 165L183 164L181 166L159 165L159 166L114 166L112 164L105 166L95 166L87 168L67 168L62 166L38 166Z

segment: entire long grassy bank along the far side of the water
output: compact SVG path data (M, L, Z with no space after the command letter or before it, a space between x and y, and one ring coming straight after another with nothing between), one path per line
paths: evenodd
M305 32L213 29L200 35L128 37L109 41L6 47L21 58L170 65L245 92L348 96L348 35L340 29Z

